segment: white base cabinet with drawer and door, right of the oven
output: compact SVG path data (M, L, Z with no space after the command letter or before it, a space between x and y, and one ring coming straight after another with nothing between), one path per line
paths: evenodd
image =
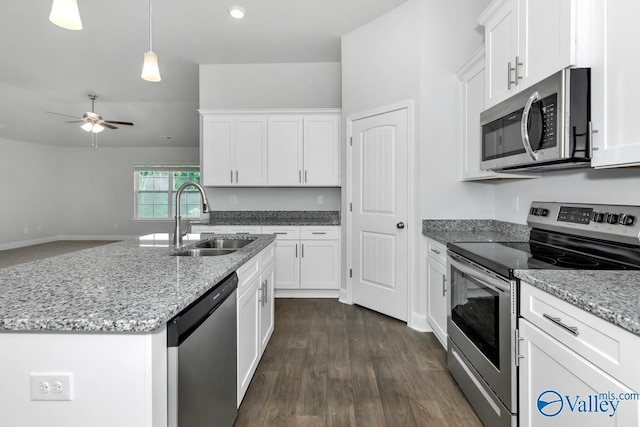
M613 399L613 413L601 395L640 391L640 337L527 283L521 291L520 426L640 425L640 400Z

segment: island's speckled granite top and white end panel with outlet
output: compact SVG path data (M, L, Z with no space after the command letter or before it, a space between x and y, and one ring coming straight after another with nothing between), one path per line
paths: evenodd
M166 323L267 247L173 256L153 234L0 270L0 425L167 423ZM190 235L185 246L224 236ZM33 373L71 373L72 400L30 399Z

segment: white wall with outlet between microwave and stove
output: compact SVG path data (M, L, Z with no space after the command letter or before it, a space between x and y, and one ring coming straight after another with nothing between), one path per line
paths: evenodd
M640 169L580 169L543 174L540 179L495 184L496 219L527 223L531 202L554 201L640 205ZM518 197L520 209L512 209Z

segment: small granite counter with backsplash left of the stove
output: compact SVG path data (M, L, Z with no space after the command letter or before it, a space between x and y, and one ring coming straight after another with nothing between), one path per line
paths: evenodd
M526 225L493 219L424 219L422 234L444 245L449 242L514 242L529 240Z

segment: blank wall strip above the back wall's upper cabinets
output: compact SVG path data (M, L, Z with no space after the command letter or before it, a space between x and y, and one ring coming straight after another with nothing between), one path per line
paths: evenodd
M340 63L200 65L200 108L340 108Z

